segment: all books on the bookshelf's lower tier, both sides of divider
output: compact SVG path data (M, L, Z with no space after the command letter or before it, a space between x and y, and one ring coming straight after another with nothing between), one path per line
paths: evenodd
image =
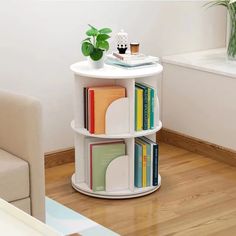
M85 183L92 191L106 191L106 171L116 158L126 155L123 139L85 139ZM128 168L128 166L124 166ZM127 185L128 185L127 179ZM143 137L135 141L134 186L158 185L158 145Z

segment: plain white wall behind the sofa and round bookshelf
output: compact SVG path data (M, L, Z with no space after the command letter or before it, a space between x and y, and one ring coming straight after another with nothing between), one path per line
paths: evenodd
M24 1L0 3L0 87L38 97L45 151L73 146L73 76L87 23L124 28L143 52L168 55L225 43L226 12L203 2Z

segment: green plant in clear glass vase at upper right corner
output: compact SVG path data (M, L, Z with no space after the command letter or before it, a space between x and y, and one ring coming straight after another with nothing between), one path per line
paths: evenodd
M212 0L206 5L227 8L230 20L230 37L227 54L230 60L236 60L236 0Z

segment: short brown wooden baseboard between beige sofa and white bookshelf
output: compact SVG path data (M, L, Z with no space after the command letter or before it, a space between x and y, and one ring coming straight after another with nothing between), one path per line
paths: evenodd
M58 150L55 152L46 153L45 157L45 168L51 168L54 166L63 165L66 163L71 163L75 161L75 149L68 148L63 150Z

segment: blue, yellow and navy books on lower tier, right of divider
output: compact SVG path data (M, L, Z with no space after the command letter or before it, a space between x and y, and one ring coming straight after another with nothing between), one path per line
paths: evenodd
M135 187L158 185L158 144L146 137L135 139L134 173Z

